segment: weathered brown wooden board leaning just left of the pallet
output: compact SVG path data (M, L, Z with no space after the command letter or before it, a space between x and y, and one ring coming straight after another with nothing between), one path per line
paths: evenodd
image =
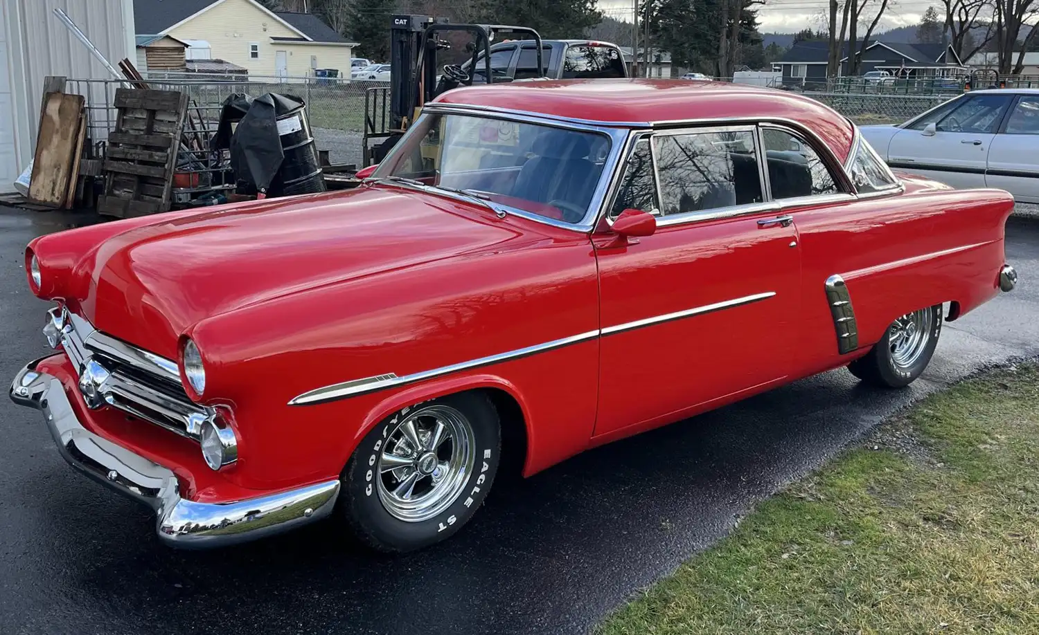
M54 206L64 204L82 113L83 95L48 93L36 135L30 199Z

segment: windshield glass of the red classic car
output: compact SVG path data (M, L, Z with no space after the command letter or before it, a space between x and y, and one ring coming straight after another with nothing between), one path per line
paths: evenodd
M580 223L609 150L610 138L598 133L426 113L373 177L463 190L499 205Z

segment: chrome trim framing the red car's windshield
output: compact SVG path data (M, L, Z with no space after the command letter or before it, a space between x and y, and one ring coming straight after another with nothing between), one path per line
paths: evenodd
M447 108L445 108L447 107ZM598 219L598 211L602 209L603 200L610 190L612 183L612 174L616 168L619 157L624 148L625 142L629 137L629 131L625 129L619 129L616 127L607 126L596 121L583 121L577 119L565 119L561 117L552 117L547 115L539 115L537 113L527 113L523 111L511 111L507 109L485 109L480 107L464 106L458 107L456 105L448 104L431 104L423 109L422 114L416 119L415 123L411 125L411 129L417 128L429 114L454 114L454 115L468 115L474 117L483 117L490 119L503 119L507 121L518 121L523 123L533 123L537 126L550 126L552 128L559 128L562 130L571 130L577 132L594 133L604 135L610 140L610 151L606 156L606 160L603 163L603 173L600 174L598 183L595 185L595 190L592 192L591 200L588 202L588 209L585 211L584 217L581 219L580 223L568 223L566 221L556 220L545 216L540 216L534 214L533 212L527 212L525 210L520 210L509 205L503 205L501 203L494 203L496 206L504 208L509 214L514 214L521 218L531 220L534 222L542 223L545 225L552 225L553 227L558 227L560 229L568 229L571 231L579 231L581 233L587 233L591 231L594 227L595 221ZM395 158L397 153L403 151L402 143L397 143L394 148L390 151L383 163L388 163L391 159ZM377 176L377 174L373 174ZM609 176L609 177L608 177ZM468 202L472 204L463 196L453 194L451 192L444 192L437 190L436 188L431 188L437 195L443 195L448 198L455 200Z

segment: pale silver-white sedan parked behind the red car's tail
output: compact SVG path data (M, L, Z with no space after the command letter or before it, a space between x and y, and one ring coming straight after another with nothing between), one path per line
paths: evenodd
M899 126L863 126L889 166L1039 203L1039 88L975 90Z

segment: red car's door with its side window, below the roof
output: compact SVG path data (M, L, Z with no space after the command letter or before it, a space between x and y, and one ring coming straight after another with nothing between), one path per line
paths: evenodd
M624 245L594 237L603 440L763 390L790 371L797 228L766 201L752 126L646 134L611 205L658 217Z

